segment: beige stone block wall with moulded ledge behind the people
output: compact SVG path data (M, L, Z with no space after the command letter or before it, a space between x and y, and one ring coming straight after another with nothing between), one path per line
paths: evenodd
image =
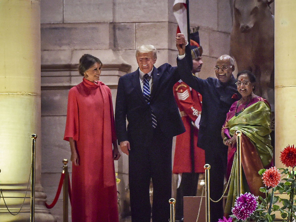
M158 49L156 67L176 65L174 0L44 0L41 1L41 123L42 186L51 203L57 190L62 160L70 160L70 147L63 141L68 90L81 82L75 67L83 53L99 57L105 66L101 80L112 91L114 108L118 78L137 69L137 46ZM203 62L200 78L215 77L217 57L229 54L232 26L228 0L190 0L191 26L200 26ZM71 172L71 164L69 171ZM122 215L128 212L128 158L115 163L121 179ZM52 208L62 221L62 195ZM70 215L70 209L69 209Z

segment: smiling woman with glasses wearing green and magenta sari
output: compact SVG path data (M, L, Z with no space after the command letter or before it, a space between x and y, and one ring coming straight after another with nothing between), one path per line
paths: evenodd
M266 99L253 94L255 76L247 70L237 74L237 91L242 95L234 102L227 113L221 130L223 143L228 146L228 164L226 177L231 174L224 216L231 215L237 197L237 141L235 132L242 132L242 193L251 192L255 196L263 195L259 191L264 186L258 171L272 165L272 146L270 139L270 105ZM234 167L231 172L232 163Z

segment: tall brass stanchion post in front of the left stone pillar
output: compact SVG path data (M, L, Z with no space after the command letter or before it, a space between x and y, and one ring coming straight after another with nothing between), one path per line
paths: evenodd
M30 209L30 222L34 222L35 216L35 167L36 167L36 138L37 134L33 133L32 138L32 171L31 171L31 209Z

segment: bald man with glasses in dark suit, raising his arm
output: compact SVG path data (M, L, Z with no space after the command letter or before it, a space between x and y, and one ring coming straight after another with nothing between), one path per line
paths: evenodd
M217 59L216 78L201 79L192 75L191 61L178 59L181 79L202 95L202 114L198 133L198 147L205 150L205 163L210 164L210 198L217 201L223 194L224 174L227 167L227 146L221 138L221 128L231 104L239 99L234 71L234 61L229 55ZM236 95L235 95L236 94ZM223 216L222 200L210 202L211 221Z

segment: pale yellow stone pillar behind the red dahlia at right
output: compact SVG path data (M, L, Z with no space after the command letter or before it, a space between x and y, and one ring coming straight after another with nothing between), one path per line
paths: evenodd
M288 144L296 145L296 1L275 1L275 164L280 151Z

